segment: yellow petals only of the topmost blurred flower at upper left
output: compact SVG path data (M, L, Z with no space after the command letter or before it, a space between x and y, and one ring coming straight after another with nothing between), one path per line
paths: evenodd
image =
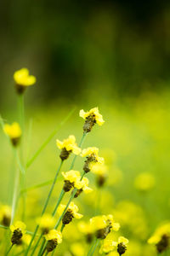
M27 68L21 68L14 73L14 81L21 86L30 86L36 83L36 78L29 75L29 70Z

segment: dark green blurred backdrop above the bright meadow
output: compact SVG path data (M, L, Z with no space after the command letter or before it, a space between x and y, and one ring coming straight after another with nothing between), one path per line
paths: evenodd
M1 100L21 67L37 76L45 101L88 88L135 96L169 86L168 1L7 0L0 27Z

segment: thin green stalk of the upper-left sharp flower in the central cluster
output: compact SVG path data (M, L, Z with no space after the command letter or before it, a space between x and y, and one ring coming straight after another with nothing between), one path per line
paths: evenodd
M41 214L41 216L43 215L43 213L46 211L46 208L48 207L48 201L49 201L49 199L50 199L50 197L51 197L51 194L52 194L52 192L53 192L54 185L55 185L55 183L56 183L56 181L57 181L57 177L58 177L58 175L59 175L59 171L60 171L62 165L63 165L63 161L61 160L61 161L60 161L60 164L59 164L59 168L58 168L58 170L57 170L57 172L56 172L56 174L55 174L55 177L54 177L54 182L53 182L53 184L52 184L52 186L51 186L51 189L49 190L47 200L45 201L45 205L44 205L44 207L43 207L43 209L42 209L42 214ZM29 252L29 250L30 250L30 248L31 248L32 241L34 240L34 238L35 238L35 236L36 236L36 234L37 234L38 228L39 228L39 225L37 225L37 227L36 227L36 229L35 229L35 231L34 231L34 233L33 233L33 236L32 236L32 238L31 238L31 242L30 242L29 246L28 246L27 249L26 249L25 255L28 254L28 252Z

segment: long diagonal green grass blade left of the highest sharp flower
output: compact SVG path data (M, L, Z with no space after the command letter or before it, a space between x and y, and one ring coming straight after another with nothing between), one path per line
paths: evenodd
M65 117L65 119L64 119L62 122L60 122L60 124L58 125L58 127L55 128L55 130L51 132L51 134L47 137L47 139L42 143L42 145L40 146L40 148L37 149L37 152L31 157L30 160L28 160L28 162L26 163L26 167L27 167L27 168L30 167L31 164L33 163L33 161L37 159L37 156L42 152L42 149L45 148L45 147L48 145L48 143L52 140L52 138L55 136L55 134L59 131L60 127L62 127L63 125L65 125L66 121L67 121L68 119L70 119L72 113L74 113L75 110L76 110L76 108L73 108L73 109L71 110L71 112Z

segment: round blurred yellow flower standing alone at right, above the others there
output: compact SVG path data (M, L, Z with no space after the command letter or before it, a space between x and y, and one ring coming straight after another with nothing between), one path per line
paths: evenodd
M149 172L140 173L134 180L134 186L140 191L146 192L152 189L155 185L155 177Z

